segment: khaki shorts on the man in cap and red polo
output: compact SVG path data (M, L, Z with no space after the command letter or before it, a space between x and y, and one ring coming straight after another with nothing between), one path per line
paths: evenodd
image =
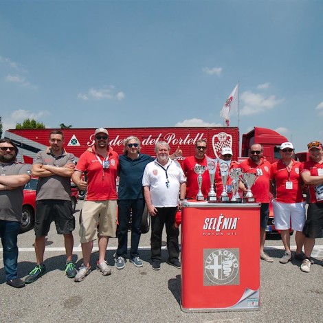
M80 214L80 243L87 243L98 236L115 238L117 230L117 201L84 201Z

